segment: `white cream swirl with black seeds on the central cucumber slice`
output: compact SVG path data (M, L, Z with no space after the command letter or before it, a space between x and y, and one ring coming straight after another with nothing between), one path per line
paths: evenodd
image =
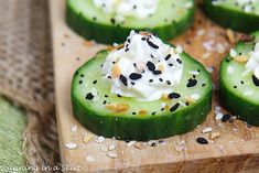
M160 99L180 84L181 47L171 47L151 33L130 32L123 47L109 52L101 71L110 93L140 101Z

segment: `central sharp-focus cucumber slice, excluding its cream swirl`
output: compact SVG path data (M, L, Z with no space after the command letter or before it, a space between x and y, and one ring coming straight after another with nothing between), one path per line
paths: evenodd
M184 73L175 93L165 100L155 101L138 101L110 94L110 87L101 80L101 64L107 55L107 51L97 53L74 74L74 116L88 130L105 137L145 141L193 130L211 111L211 75L187 54L180 54ZM193 101L197 96L199 99ZM110 106L117 106L118 111L110 110Z

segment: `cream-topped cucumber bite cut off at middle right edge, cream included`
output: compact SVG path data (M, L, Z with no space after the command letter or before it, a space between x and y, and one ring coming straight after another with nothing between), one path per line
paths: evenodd
M259 126L259 32L240 41L223 60L220 99L228 111Z

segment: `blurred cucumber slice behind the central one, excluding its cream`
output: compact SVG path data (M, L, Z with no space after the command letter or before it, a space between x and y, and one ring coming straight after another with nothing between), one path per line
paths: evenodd
M183 33L194 20L194 0L160 0L157 12L144 19L127 17L117 22L94 6L93 0L67 0L66 22L85 39L100 43L120 43L134 29L151 30L163 40Z

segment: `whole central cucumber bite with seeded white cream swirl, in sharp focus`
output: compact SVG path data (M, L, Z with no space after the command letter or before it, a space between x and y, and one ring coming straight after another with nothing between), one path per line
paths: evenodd
M88 130L150 140L193 130L212 107L212 79L181 46L131 31L123 45L100 51L72 83L76 119Z

